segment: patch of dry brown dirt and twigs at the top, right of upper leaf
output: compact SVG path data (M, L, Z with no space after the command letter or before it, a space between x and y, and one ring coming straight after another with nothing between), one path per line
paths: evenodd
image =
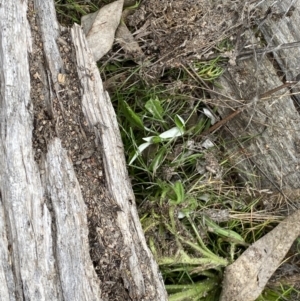
M256 1L149 0L128 16L145 55L160 71L214 57L225 40L239 51L240 35L265 14ZM224 46L224 44L223 44ZM232 53L223 53L232 56ZM235 53L237 55L237 53Z

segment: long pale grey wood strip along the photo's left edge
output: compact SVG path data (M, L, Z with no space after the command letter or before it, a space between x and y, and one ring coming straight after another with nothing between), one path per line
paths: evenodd
M27 3L0 6L1 265L3 300L61 300L51 246L51 216L34 161ZM33 281L34 280L34 281Z

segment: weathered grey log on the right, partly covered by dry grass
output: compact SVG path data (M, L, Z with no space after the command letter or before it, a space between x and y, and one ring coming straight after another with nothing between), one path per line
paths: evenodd
M295 2L293 9L288 0L273 4L263 1L259 6L262 15L266 14L258 22L263 39L268 45L299 41L299 3ZM274 13L267 14L268 9ZM300 118L294 99L298 95L292 93L299 91L300 84L291 85L292 90L267 92L282 85L278 67L285 80L295 79L299 57L298 48L274 51L273 58L256 55L253 50L251 59L237 61L222 77L224 89L219 92L228 97L216 97L223 118L244 108L227 124L230 140L234 137L234 143L228 144L229 153L243 178L256 188L279 189L294 196L299 195L300 188Z

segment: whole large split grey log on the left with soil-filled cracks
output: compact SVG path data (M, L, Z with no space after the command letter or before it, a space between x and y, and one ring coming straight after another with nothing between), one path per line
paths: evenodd
M0 300L167 300L81 28L53 1L0 17Z

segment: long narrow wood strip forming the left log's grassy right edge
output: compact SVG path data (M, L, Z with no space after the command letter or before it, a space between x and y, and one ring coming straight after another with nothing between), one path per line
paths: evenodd
M120 208L116 223L121 229L125 245L130 249L130 271L126 281L133 280L138 300L144 294L145 300L167 300L162 277L147 247L137 214L123 143L109 95L103 90L99 71L79 26L74 25L72 37L77 49L78 74L83 89L83 111L101 144L107 187Z

